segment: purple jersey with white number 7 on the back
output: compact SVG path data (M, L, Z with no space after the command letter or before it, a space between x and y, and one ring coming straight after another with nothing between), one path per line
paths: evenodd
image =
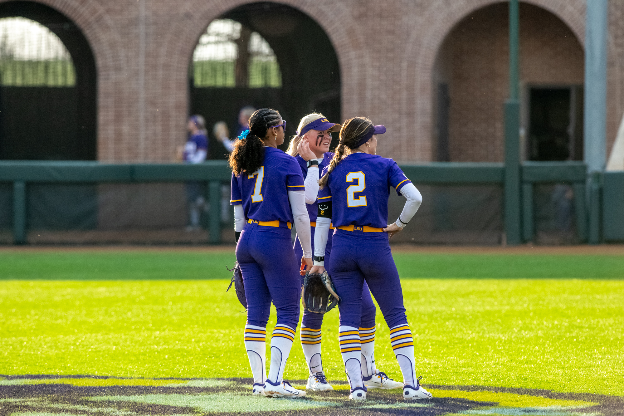
M293 222L288 191L304 191L295 158L274 147L263 147L263 166L253 174L232 174L232 205L242 205L245 217L258 221Z

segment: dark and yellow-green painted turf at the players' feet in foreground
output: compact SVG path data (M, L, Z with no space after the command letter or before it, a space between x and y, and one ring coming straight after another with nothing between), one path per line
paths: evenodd
M427 385L432 400L404 402L402 390L369 390L365 402L348 400L344 382L333 392L303 399L251 395L251 379L122 379L117 377L0 376L0 416L19 415L534 415L616 416L624 397L548 390ZM293 385L303 388L305 380Z

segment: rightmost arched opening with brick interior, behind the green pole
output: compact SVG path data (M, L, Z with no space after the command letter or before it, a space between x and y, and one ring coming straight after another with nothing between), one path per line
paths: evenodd
M434 160L504 159L509 94L506 2L472 12L440 47L432 74ZM520 3L524 160L583 159L583 48L554 14Z

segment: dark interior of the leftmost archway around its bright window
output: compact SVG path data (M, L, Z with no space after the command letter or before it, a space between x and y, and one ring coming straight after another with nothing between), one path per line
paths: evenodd
M64 14L36 2L4 2L2 17L31 19L59 37L71 55L74 78L58 85L2 82L0 159L95 160L97 73L87 39ZM46 62L22 66L37 63Z

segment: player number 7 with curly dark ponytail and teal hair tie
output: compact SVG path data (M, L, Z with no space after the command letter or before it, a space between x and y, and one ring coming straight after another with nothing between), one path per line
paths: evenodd
M304 397L283 381L284 366L299 322L299 263L291 242L293 222L300 233L301 265L310 269L310 217L306 210L299 164L277 146L284 142L280 114L271 109L253 113L249 130L239 136L230 155L236 260L240 266L247 322L245 349L253 374L252 392L268 397ZM266 323L271 302L277 323L271 337L271 366L266 375Z

